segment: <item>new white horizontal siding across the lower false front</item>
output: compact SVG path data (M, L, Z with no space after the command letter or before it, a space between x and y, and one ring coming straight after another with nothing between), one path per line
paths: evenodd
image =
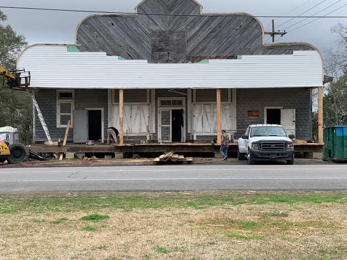
M290 55L243 55L209 63L150 64L122 60L105 52L67 52L66 46L34 45L17 67L31 72L35 88L279 88L321 87L317 51Z

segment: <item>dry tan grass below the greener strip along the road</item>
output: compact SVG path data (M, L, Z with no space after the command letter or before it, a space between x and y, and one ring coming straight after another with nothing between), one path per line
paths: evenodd
M91 213L110 218L80 219ZM346 245L342 203L0 214L1 259L341 260Z

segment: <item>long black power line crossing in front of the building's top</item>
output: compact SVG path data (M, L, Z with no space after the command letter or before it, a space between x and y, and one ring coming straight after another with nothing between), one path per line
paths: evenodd
M326 0L324 0L326 1ZM246 15L246 14L175 14L175 13L131 13L131 12L109 12L109 11L92 11L92 10L75 10L75 9L53 9L53 8L33 8L17 6L0 6L0 8L26 9L26 10L45 10L45 11L64 11L64 12L89 12L89 13L110 13L110 14L137 14L137 15L166 15L166 16L222 16L222 17L259 17L259 18L347 18L347 16L281 16L281 15Z

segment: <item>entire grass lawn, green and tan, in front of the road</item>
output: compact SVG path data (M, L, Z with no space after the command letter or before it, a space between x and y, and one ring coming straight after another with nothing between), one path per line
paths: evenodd
M347 259L347 192L0 195L0 259Z

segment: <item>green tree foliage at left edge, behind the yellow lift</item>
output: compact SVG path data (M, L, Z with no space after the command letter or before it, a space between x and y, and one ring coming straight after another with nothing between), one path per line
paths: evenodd
M0 64L7 69L16 67L19 52L28 44L23 35L17 35L9 25L4 25L6 15L0 11ZM0 79L2 84L2 80ZM0 127L18 128L21 142L32 140L32 101L27 92L0 87Z

